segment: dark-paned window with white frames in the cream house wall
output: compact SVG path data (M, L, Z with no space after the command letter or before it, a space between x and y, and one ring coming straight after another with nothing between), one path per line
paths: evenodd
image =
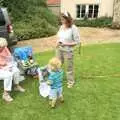
M77 5L77 18L97 18L99 5Z

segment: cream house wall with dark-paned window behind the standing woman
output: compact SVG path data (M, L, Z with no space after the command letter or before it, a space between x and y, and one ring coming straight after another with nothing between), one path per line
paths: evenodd
M74 19L113 17L114 0L61 0L61 12L70 12Z

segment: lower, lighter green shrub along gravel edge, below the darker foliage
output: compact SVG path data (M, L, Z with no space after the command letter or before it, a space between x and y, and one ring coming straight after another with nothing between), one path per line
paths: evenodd
M17 22L14 24L14 28L16 28L15 30L19 40L48 37L54 35L57 31L57 28L48 24L46 20L41 20L41 23L32 22L32 24Z

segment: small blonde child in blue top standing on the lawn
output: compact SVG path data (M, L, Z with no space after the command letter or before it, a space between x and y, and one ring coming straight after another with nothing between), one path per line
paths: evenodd
M63 98L63 71L61 69L61 61L58 58L52 58L48 64L51 72L48 76L48 84L51 86L51 91L49 95L51 108L55 108L56 102L59 99L61 102L64 102Z

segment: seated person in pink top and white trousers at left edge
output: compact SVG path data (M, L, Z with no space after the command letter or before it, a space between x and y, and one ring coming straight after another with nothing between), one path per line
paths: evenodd
M19 82L24 80L24 76L20 75L17 63L13 60L7 48L7 41L4 38L0 38L0 80L4 81L3 99L6 102L13 101L13 98L9 94L12 90L13 82L16 85L16 91L25 92L25 89L19 85Z

